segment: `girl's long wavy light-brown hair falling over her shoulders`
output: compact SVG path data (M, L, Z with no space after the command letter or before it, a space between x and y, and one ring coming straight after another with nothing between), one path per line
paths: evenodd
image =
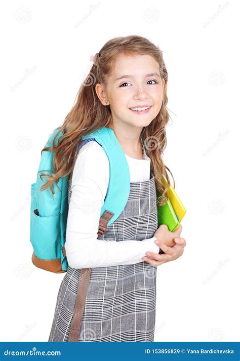
M152 56L159 64L161 77L165 79L161 110L152 122L143 128L141 137L144 140L146 154L151 159L151 171L154 175L156 190L159 192L157 205L162 206L167 202L170 179L166 169L170 173L171 171L165 166L162 157L167 145L166 125L169 121L168 72L162 51L158 46L156 47L147 38L138 35L112 38L101 48L99 53L96 53L94 63L78 90L75 104L65 117L62 126L56 128L59 131L53 139L53 146L45 147L41 151L41 155L43 151L54 151L53 174L41 174L42 180L43 176L48 178L41 190L50 187L51 193L54 194L54 183L57 183L61 177L68 177L73 171L77 156L76 149L78 149L82 137L101 127L109 128L108 125L112 121L110 106L102 105L95 91L95 84L101 83L106 86L107 77L119 55L134 54ZM62 132L61 136L59 136L60 132ZM57 143L56 139L58 139ZM167 184L162 180L163 175L166 177ZM173 181L175 188L174 177Z

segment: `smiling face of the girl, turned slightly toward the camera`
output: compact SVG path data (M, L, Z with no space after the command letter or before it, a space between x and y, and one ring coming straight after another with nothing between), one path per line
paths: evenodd
M113 123L127 128L148 126L161 110L163 87L159 65L150 55L121 55L108 77L106 92L99 92L103 105L109 100ZM130 108L149 107L147 111Z

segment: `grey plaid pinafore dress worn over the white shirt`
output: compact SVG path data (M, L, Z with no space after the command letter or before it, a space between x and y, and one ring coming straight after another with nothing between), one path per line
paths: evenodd
M71 196L71 176L68 203ZM111 211L111 210L109 210ZM153 237L156 189L150 179L130 182L128 202L98 239L121 242ZM157 266L142 261L91 270L79 341L154 341ZM68 341L81 269L68 266L57 296L48 341Z

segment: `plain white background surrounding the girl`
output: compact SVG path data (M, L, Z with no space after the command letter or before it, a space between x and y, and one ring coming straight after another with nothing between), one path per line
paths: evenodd
M154 341L238 341L238 3L26 0L1 8L1 341L48 341L65 273L31 263L30 186L90 56L130 34L164 54L164 161L187 210L183 256L157 267Z

